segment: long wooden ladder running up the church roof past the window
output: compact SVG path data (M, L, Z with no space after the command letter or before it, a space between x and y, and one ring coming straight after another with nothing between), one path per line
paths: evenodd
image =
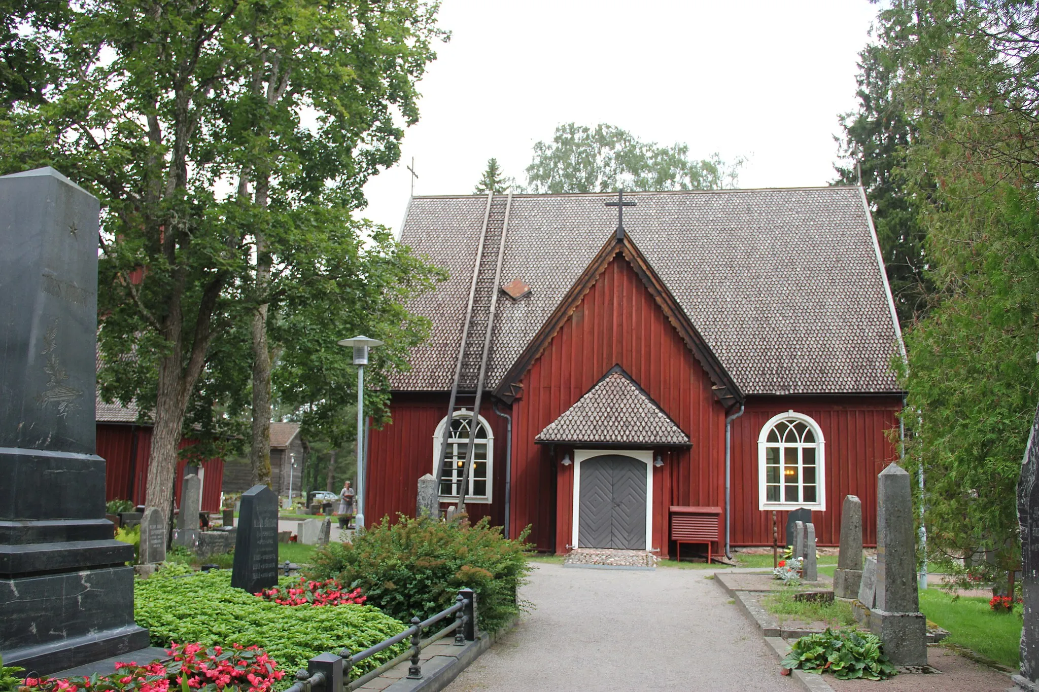
M508 234L511 210L512 193L487 194L487 206L483 212L483 227L480 230L480 242L476 249L473 279L469 289L469 307L458 344L451 396L448 399L448 417L441 438L441 452L436 460L436 492L439 493L448 440L451 438L451 425L455 414L467 410L465 405L469 404L472 407L472 417L469 422L465 462L458 488L458 511L465 509L465 493L469 490L469 476L473 468L473 449L479 425L480 405L483 402L490 339L495 331L498 287L502 281L502 258L505 256L505 239ZM492 478L487 478L488 483L492 481Z

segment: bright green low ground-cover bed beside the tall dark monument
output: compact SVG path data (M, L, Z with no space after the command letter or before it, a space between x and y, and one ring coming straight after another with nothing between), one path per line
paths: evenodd
M233 588L225 570L187 576L176 575L178 571L160 571L134 584L134 619L149 630L155 646L168 646L171 641L256 645L283 670L292 672L305 668L307 661L318 654L338 654L343 648L356 654L404 629L371 606L282 606ZM283 578L279 585L295 581ZM405 648L401 643L363 661L354 676Z

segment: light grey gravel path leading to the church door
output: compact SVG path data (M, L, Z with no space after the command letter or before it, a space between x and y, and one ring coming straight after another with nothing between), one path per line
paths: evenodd
M799 690L708 574L537 564L533 611L447 689Z

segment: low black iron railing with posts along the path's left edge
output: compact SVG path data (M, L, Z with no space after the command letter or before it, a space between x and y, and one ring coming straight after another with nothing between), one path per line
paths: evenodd
M441 628L425 639L422 638L424 630L452 616L450 625ZM412 617L409 628L389 639L383 639L374 646L369 646L363 652L350 654L348 649L344 648L338 655L321 654L314 657L308 661L307 670L296 672L296 683L285 692L349 692L408 659L411 660L407 668L408 680L422 680L422 649L452 633L454 633L455 646L464 646L467 642L476 640L476 593L471 588L460 589L458 596L455 597L454 605L451 607L445 608L424 620ZM368 671L357 680L350 681L350 670L358 663L408 639L410 639L411 645L406 652Z

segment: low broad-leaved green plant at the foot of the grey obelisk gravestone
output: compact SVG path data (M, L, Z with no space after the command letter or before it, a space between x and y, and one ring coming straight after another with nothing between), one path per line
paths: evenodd
M837 680L886 680L898 674L876 635L830 628L795 641L780 665L805 672L831 672Z

